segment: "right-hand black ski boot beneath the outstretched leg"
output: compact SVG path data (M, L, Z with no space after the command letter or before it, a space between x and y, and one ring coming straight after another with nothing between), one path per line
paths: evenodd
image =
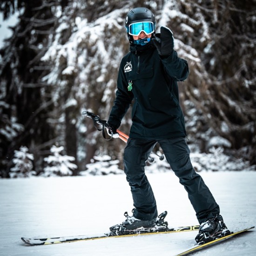
M206 222L202 222L199 227L199 233L195 237L196 244L204 244L215 240L218 237L227 236L230 231L223 222L221 215L217 215L214 218L208 219Z

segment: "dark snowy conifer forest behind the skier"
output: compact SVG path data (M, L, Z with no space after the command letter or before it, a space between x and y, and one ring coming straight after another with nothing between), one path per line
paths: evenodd
M19 14L0 49L0 177L79 175L104 155L122 168L124 143L81 113L108 119L129 51L124 19L141 6L189 62L179 90L191 151L255 166L255 0L0 0L5 20ZM120 129L130 126L129 110Z

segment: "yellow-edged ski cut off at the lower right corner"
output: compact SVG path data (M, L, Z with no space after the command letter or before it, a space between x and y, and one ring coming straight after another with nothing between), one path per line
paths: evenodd
M242 234L250 229L254 229L255 227L250 227L248 229L243 229L243 230L240 230L240 231L237 231L237 232L231 232L227 235L224 235L222 237L219 237L219 238L216 238L208 243L203 243L203 244L196 244L195 246L191 247L190 249L187 249L186 251L183 251L182 253L180 254L177 254L176 256L184 256L184 255L189 255L190 253L193 253L193 252L197 252L199 250L202 250L202 249L206 249L212 245L215 245L217 243L221 243L221 242L224 242L226 241L227 239L230 239L234 236L237 236L239 234Z

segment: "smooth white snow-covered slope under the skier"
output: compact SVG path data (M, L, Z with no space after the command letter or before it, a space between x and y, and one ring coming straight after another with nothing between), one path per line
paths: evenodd
M256 224L256 172L202 172L229 229ZM197 224L177 177L148 173L158 211L169 226ZM172 256L194 244L195 232L109 238L29 247L26 237L91 235L108 231L133 208L125 175L32 177L0 180L1 256ZM256 231L196 253L198 256L252 256Z

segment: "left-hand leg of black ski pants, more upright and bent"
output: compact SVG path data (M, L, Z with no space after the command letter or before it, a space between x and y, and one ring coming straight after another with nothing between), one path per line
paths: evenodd
M135 218L152 220L157 217L155 196L145 175L145 165L156 141L128 139L124 149L124 172L129 182L133 201Z

